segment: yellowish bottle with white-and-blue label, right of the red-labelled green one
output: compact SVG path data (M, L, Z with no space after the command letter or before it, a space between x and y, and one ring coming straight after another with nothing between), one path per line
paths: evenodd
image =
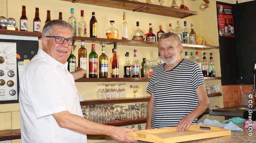
M108 78L108 56L105 55L105 45L101 47L99 56L99 78Z

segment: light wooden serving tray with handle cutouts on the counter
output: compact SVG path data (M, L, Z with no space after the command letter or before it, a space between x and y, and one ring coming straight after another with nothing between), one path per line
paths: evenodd
M177 127L158 128L128 132L136 140L152 143L177 143L189 140L215 138L231 135L230 130L214 126L191 125L186 131L177 131Z

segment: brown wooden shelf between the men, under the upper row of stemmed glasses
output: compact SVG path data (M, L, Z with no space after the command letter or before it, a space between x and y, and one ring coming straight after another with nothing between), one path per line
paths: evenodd
M95 105L95 104L120 104L120 103L135 103L135 102L148 102L150 96L137 97L137 98L125 98L125 99L113 99L113 100L84 100L80 101L80 105Z

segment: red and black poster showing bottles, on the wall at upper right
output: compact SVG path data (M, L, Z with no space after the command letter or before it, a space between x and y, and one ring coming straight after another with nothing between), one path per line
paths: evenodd
M233 7L217 4L219 36L235 37Z

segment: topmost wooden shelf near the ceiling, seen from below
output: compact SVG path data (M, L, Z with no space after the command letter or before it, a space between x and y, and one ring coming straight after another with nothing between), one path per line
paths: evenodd
M157 4L148 4L131 0L64 0L72 1L72 3L82 3L97 5L102 7L118 8L130 10L133 12L143 12L155 15L170 16L176 18L185 18L192 15L197 15L196 11L187 11L172 7L161 6Z

